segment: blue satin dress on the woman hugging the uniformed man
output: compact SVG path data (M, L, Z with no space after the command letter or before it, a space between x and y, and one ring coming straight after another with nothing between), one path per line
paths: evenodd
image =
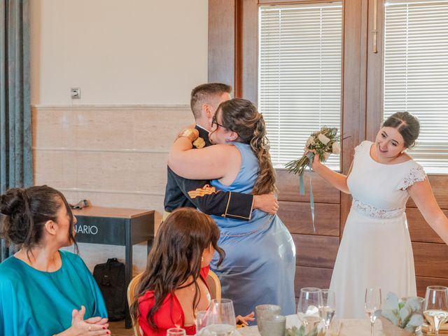
M251 193L258 176L258 159L248 144L232 143L241 153L241 168L230 186L218 180L219 190ZM221 230L218 246L225 251L224 262L211 269L221 279L222 297L233 300L235 314L245 316L258 304L279 304L281 314L295 314L295 245L279 216L252 211L251 219L237 221L212 216Z

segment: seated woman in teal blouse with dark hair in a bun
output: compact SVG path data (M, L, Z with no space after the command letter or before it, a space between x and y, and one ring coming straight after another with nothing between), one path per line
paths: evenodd
M0 335L110 335L102 294L75 244L64 195L48 186L0 196L1 236L20 246L0 264ZM78 310L79 309L79 310Z

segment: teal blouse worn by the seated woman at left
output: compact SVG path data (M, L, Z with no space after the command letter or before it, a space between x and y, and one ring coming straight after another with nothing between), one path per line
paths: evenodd
M9 257L0 264L0 335L47 336L71 326L71 311L107 317L102 294L83 260L59 251L62 267L41 272Z

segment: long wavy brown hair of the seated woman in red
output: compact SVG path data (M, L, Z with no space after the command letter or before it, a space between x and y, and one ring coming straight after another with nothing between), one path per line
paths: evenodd
M154 314L160 308L168 294L174 295L179 288L190 286L196 288L193 299L193 311L200 300L197 278L200 276L202 253L210 244L219 253L218 265L225 253L218 247L219 229L210 216L192 208L176 209L160 225L153 248L148 255L144 275L137 286L130 313L134 321L139 318L139 297L147 290L153 290L155 303L148 312L146 320L153 330ZM188 282L189 278L193 281Z

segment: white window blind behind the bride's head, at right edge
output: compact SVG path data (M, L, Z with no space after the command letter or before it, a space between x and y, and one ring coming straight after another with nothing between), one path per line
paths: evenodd
M384 116L398 111L421 123L410 155L448 173L448 1L386 1Z

